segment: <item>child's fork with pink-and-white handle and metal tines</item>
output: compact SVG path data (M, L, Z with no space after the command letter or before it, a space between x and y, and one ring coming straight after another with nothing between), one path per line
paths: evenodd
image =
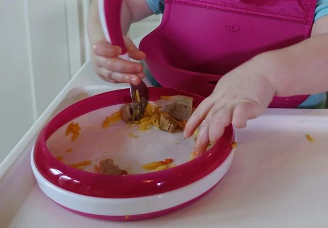
M122 0L98 0L99 19L106 40L122 49L120 58L130 61L122 36L120 23L121 7ZM149 94L144 81L141 81L138 85L130 85L130 93L133 108L131 123L133 123L144 116L149 101Z

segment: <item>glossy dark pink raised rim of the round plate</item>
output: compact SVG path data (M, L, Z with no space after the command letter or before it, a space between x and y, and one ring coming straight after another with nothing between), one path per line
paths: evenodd
M203 100L203 97L176 89L149 87L150 101L173 95L193 97L195 107ZM81 195L101 198L142 197L194 183L219 167L231 153L231 144L235 140L232 125L226 128L220 140L206 153L188 163L154 173L111 176L85 172L57 161L50 153L46 142L56 129L88 112L129 102L130 89L120 89L81 100L59 112L40 131L34 145L34 162L40 174L55 186Z

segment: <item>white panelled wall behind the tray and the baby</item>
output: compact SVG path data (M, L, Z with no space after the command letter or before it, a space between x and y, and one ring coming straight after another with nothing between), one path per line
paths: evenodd
M0 1L0 163L89 59L91 0ZM158 26L131 26L134 39Z

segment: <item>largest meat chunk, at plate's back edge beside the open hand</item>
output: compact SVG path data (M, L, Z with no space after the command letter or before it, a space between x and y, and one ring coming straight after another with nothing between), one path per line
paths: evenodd
M171 100L156 101L159 111L169 113L178 121L188 120L193 111L193 98L187 96L171 96Z

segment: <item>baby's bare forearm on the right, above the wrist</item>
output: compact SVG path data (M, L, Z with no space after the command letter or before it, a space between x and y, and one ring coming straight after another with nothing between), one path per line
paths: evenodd
M261 65L277 96L308 95L328 90L328 15L313 26L311 38L291 47L263 53ZM261 64L262 63L262 64Z

